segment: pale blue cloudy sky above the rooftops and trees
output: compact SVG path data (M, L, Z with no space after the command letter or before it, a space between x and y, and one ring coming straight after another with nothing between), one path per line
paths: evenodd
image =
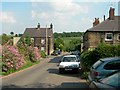
M110 7L118 10L119 0L0 0L0 34L23 34L25 28L37 24L45 28L53 24L53 32L85 32L95 18L103 21Z

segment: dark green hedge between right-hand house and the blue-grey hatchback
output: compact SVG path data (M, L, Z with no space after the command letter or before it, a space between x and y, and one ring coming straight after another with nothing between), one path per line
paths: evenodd
M93 51L86 51L81 55L81 67L89 70L100 58L120 56L120 45L99 44Z

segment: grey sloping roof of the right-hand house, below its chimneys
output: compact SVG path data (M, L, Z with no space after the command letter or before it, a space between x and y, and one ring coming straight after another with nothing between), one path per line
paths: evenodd
M120 16L115 16L114 20L106 19L100 24L87 29L87 31L115 31L120 32Z

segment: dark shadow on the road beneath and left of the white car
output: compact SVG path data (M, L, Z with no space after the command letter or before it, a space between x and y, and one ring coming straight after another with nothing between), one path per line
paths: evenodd
M81 78L81 73L79 72L74 72L74 71L65 71L64 73L60 74L59 70L57 68L49 68L47 70L50 74L57 74L57 75L62 75L62 76L69 76L69 77L78 77Z

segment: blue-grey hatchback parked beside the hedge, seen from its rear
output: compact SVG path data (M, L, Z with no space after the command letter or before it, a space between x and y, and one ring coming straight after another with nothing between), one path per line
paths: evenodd
M109 57L98 60L90 68L88 75L89 83L93 80L97 81L107 75L120 70L120 57Z

